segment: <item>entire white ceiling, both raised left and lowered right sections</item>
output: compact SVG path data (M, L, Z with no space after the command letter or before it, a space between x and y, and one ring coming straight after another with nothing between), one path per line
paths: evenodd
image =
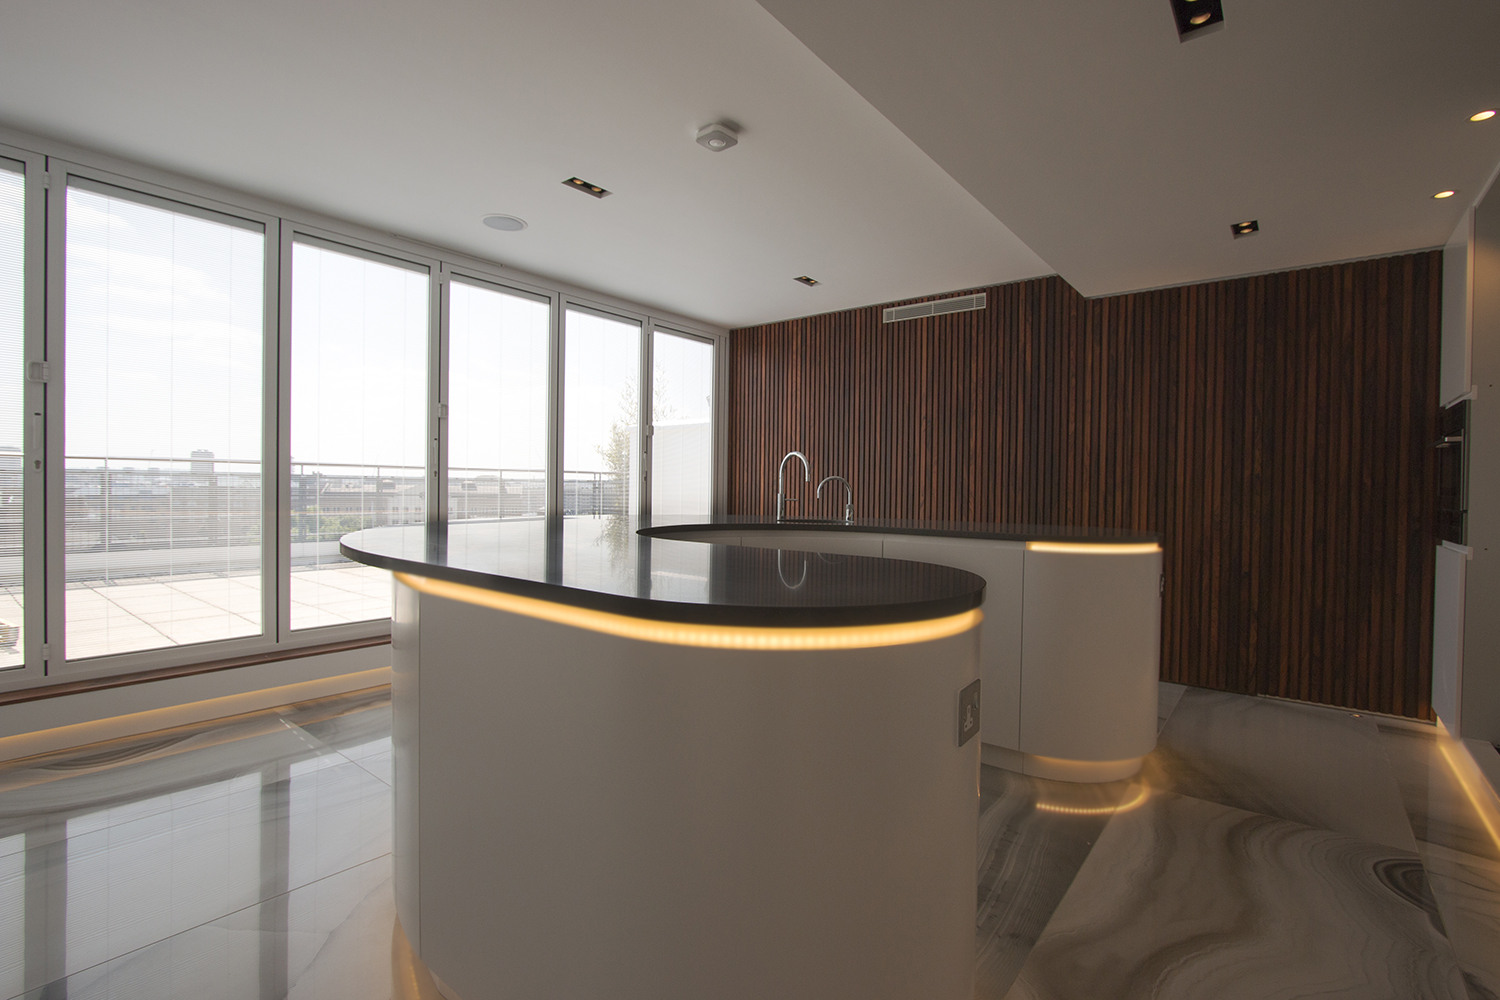
M0 123L729 327L1442 244L1500 3L1224 3L0 0Z

